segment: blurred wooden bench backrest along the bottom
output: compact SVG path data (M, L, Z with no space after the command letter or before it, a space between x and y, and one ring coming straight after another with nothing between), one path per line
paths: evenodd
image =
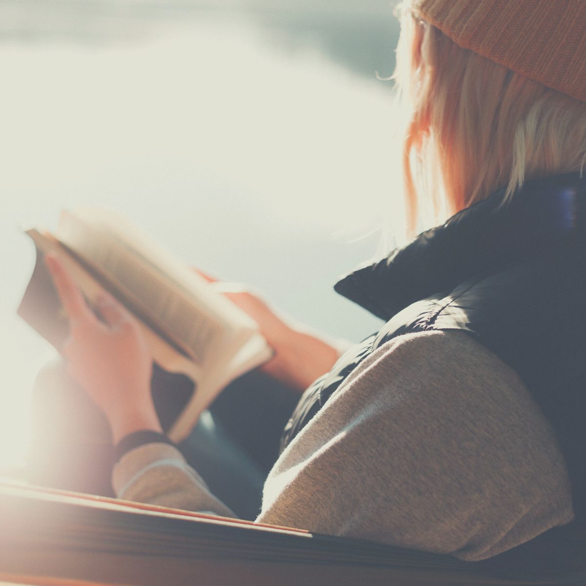
M499 579L451 556L1 482L0 519L0 582L11 584L584 583Z

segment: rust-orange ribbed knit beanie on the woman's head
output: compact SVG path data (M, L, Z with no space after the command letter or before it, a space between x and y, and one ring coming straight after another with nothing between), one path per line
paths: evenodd
M586 0L414 0L464 49L586 102Z

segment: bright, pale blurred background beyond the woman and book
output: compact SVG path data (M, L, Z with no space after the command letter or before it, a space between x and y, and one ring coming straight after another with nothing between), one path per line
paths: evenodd
M0 468L51 349L15 314L30 226L118 210L188 263L349 340L332 285L401 238L388 0L0 0Z

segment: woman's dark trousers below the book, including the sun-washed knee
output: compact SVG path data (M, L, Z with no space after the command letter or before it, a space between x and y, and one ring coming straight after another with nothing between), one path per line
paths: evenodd
M260 511L264 479L278 456L295 391L254 371L230 384L179 445L210 490L237 515ZM110 427L60 360L39 373L32 396L30 482L113 496Z

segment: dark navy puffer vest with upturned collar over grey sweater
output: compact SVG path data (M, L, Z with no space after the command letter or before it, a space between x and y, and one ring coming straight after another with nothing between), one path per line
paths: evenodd
M391 338L473 336L519 374L556 430L583 515L586 496L586 179L577 173L503 190L350 273L336 291L386 321L305 392L282 448L345 377Z

